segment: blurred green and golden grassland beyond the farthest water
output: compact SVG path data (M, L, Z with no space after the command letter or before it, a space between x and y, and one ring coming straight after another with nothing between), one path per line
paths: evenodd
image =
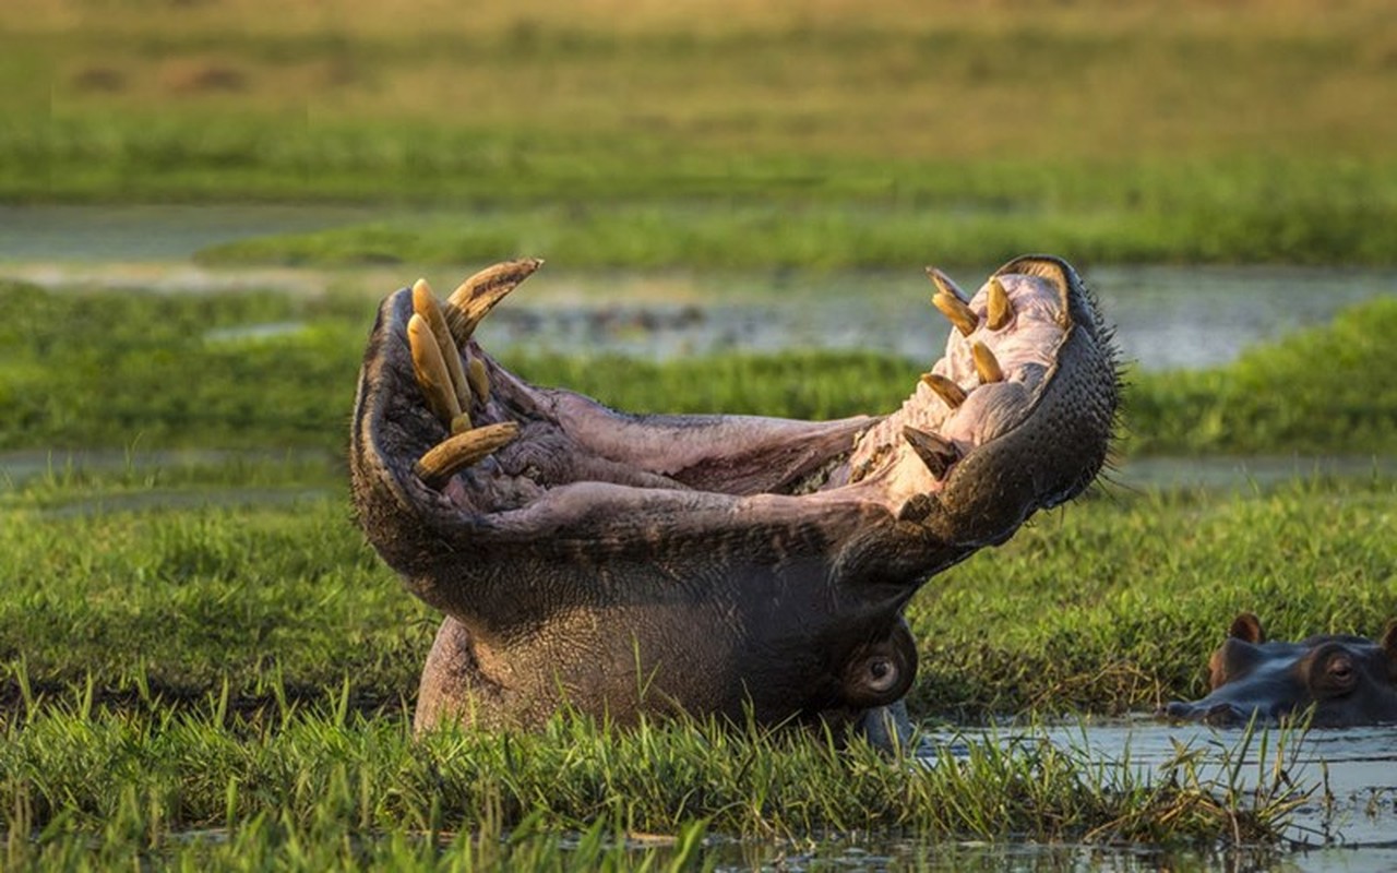
M1382 3L865 7L20 0L0 200L384 208L240 263L1394 263Z

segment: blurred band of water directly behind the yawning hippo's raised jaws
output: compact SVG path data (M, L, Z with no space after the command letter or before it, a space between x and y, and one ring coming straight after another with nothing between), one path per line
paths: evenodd
M203 268L196 251L247 236L365 221L341 207L0 207L0 277L46 286L163 292L355 288L379 298L427 272L451 288L465 268ZM539 253L546 256L548 253ZM1065 253L1070 254L1070 253ZM935 253L928 253L935 260ZM967 289L993 270L953 270ZM1144 369L1204 367L1340 309L1397 295L1397 270L1099 267L1084 278ZM879 349L912 360L940 353L946 324L921 264L888 271L696 275L569 272L550 264L482 327L490 348L645 358L789 348ZM366 305L366 318L372 309ZM256 325L254 325L256 330Z

